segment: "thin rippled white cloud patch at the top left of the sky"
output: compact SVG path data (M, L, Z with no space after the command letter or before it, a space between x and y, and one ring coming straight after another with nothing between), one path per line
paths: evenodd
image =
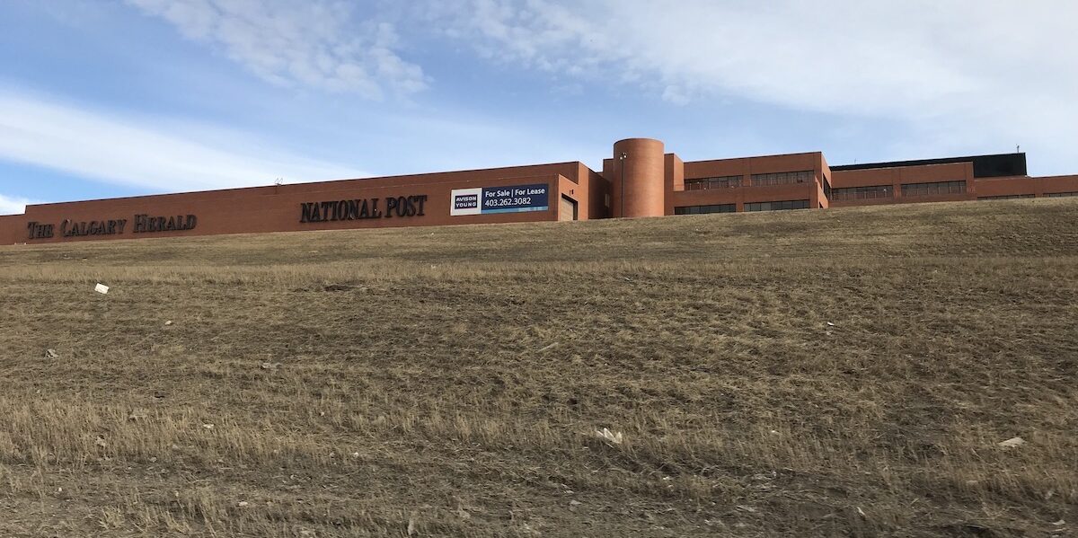
M274 84L354 92L370 99L424 89L423 69L400 57L387 22L356 20L333 0L126 0L186 38L223 50Z

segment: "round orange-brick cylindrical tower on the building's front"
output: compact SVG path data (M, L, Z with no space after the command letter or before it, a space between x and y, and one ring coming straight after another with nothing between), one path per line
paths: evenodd
M628 138L613 144L611 212L614 217L666 213L666 164L663 142Z

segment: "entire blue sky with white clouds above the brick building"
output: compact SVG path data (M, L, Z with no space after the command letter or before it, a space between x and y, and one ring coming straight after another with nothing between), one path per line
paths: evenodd
M5 0L0 213L582 161L1013 151L1078 174L1070 0Z

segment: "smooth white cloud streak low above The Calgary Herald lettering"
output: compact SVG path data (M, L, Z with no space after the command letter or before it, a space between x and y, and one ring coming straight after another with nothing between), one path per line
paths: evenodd
M216 126L86 111L3 89L0 158L163 192L365 175Z

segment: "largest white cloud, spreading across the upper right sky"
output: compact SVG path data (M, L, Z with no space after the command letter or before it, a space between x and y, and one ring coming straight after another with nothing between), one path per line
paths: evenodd
M1078 143L1078 2L430 0L488 58L639 87L883 118L926 140Z

